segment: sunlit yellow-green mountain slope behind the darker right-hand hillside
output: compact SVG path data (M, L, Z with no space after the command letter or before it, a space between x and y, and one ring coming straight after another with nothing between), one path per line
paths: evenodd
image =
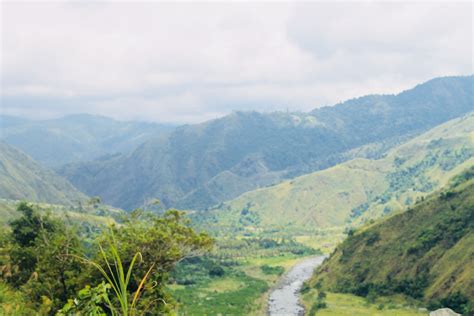
M207 213L244 229L341 226L403 209L474 165L474 114L442 124L382 159L335 167L247 192Z

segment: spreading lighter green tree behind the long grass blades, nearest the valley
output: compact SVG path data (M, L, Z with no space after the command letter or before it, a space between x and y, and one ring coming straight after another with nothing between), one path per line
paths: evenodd
M121 314L154 315L170 312L174 306L172 298L165 292L165 284L174 265L185 258L209 251L213 240L207 234L194 231L183 212L171 210L158 216L135 210L121 225L114 225L104 231L98 243L100 251L90 262L100 273L91 271L91 281L105 278L106 283L111 285L113 291L110 291L110 304L106 304L109 306L106 312L113 314L113 309L123 311L123 304L128 304L126 314ZM132 267L129 278L121 282L120 275L127 274ZM104 271L111 274L105 277ZM119 285L114 284L117 282L112 275L119 276L116 277ZM114 287L120 290L115 291ZM117 292L120 294L115 295ZM135 297L137 300L129 300ZM132 303L133 309L130 308Z

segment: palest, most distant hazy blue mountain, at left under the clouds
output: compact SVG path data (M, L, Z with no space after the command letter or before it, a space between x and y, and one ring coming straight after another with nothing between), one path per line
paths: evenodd
M42 121L0 116L0 125L0 140L50 167L129 152L174 128L155 123L119 122L87 114Z

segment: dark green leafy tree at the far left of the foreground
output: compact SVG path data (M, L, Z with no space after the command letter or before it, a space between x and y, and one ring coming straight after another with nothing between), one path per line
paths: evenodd
M54 311L81 287L81 264L71 256L79 251L77 232L49 214L20 203L22 216L10 223L12 265L9 282L35 302L48 302Z

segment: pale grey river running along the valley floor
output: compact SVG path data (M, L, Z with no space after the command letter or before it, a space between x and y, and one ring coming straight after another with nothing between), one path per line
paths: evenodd
M280 280L278 286L270 293L268 314L270 316L299 316L304 308L299 303L299 291L303 282L313 274L325 256L311 257L296 264Z

